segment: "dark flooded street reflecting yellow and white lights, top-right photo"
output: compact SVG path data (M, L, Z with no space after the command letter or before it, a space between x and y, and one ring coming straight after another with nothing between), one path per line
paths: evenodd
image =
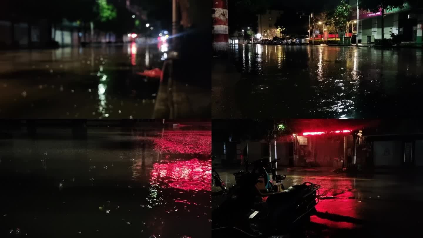
M239 80L213 86L213 117L371 118L415 115L421 49L231 45ZM236 83L235 83L236 82ZM234 85L232 85L234 84Z

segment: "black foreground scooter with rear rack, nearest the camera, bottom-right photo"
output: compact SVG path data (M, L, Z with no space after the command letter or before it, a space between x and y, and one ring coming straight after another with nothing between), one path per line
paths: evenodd
M254 174L244 172L225 201L212 213L213 231L229 229L252 237L289 232L309 221L319 185L293 185L283 192L260 194ZM318 186L318 187L316 187Z

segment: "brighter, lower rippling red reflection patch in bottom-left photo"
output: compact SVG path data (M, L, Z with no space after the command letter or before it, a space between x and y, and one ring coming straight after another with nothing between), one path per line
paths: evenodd
M211 191L211 160L155 163L151 171L151 183L158 182L165 183L162 187Z

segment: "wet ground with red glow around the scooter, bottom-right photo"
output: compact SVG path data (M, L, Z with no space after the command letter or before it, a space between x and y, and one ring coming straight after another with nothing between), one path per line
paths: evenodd
M374 174L347 176L327 172L279 169L286 174L285 188L309 181L321 185L317 213L310 225L297 234L282 237L418 237L423 225L423 175ZM228 187L235 183L235 169L217 169ZM212 191L220 188L212 187ZM212 197L213 207L221 202ZM240 236L241 237L241 236Z

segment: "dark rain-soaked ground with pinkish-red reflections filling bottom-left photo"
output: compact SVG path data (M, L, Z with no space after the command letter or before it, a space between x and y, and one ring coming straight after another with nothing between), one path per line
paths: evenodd
M3 136L0 237L210 237L210 150L209 130Z

